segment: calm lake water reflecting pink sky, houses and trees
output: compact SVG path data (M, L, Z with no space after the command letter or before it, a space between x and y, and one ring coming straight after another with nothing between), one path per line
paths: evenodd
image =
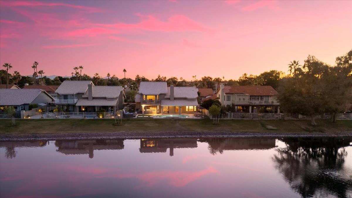
M0 197L352 197L352 137L0 142Z

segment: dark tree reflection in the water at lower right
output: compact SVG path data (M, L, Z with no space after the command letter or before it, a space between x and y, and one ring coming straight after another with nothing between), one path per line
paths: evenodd
M352 140L348 138L282 138L286 146L277 148L272 160L285 181L302 197L324 197L327 191L348 197L351 170L344 166Z

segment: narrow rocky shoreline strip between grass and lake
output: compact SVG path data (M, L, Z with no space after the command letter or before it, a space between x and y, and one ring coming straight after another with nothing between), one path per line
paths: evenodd
M60 134L3 134L0 135L0 141L38 141L38 140L96 140L96 139L140 139L140 138L226 138L226 137L344 137L352 136L352 132L306 132L306 133L288 133L288 132L137 132L137 131L119 131L119 132L77 132L77 133L60 133Z

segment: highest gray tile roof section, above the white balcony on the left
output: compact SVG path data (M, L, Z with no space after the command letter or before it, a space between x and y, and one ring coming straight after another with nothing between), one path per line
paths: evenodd
M78 80L65 80L56 89L55 93L58 94L77 94L84 93L88 89L88 84L93 83L92 81L78 81Z

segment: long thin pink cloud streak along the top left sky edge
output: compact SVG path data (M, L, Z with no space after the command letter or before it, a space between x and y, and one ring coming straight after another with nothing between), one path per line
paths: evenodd
M79 5L72 5L72 4L64 4L64 3L46 3L46 2L39 2L39 1L1 1L2 6L9 6L9 7L36 7L36 6L64 6L64 7L71 7L80 10L84 10L87 12L101 12L100 8L95 7L87 7L87 6L79 6Z

